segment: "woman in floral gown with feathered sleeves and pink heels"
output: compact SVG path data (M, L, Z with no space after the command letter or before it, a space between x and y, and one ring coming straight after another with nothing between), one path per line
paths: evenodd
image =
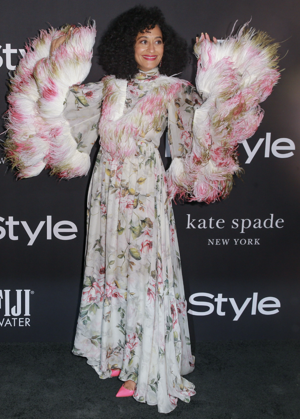
M182 377L194 357L171 198L212 202L229 193L237 142L255 132L258 103L278 80L276 46L244 28L222 44L202 34L197 93L170 77L184 68L186 43L158 8L116 18L99 48L114 75L80 85L94 36L92 27L66 26L27 48L11 80L7 153L20 177L44 167L82 176L99 133L73 353L100 378L119 375L117 396L168 413L195 394ZM167 125L166 175L158 145Z

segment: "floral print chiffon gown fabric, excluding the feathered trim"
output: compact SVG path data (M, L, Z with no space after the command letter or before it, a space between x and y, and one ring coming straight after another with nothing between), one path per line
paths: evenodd
M127 83L123 113L131 111L160 75L139 73ZM78 150L97 137L103 83L73 86L65 103ZM189 402L194 370L181 263L166 173L158 146L168 124L172 157L191 149L195 89L182 84L161 126L137 141L133 158L99 151L88 194L83 294L73 353L88 358L100 378L120 368L136 383L134 398L172 411Z

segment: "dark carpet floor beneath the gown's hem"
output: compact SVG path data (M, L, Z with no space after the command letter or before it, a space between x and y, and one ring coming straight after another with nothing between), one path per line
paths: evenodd
M300 341L193 345L197 394L168 414L115 398L118 378L100 380L71 344L0 344L1 419L300 419Z

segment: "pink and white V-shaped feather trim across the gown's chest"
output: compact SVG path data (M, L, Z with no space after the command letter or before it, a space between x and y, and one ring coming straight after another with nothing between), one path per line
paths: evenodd
M147 95L123 115L127 81L106 76L104 98L99 122L101 146L111 155L123 159L137 152L137 141L147 132L161 130L161 116L168 104L182 88L189 83L178 78L160 75L149 82Z

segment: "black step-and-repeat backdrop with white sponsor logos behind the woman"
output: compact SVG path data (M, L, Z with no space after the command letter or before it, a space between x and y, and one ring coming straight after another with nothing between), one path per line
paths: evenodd
M47 22L58 27L95 19L98 41L112 18L138 3L3 3L0 112L6 109L8 72L23 55L26 39ZM220 39L236 20L240 25L250 19L251 26L282 43L282 78L262 105L258 132L239 146L242 180L235 179L222 202L177 204L174 212L191 338L299 339L299 3L149 0L147 5L160 6L191 47L202 31ZM191 62L182 77L194 83L194 74ZM87 81L102 75L94 57ZM168 155L164 142L163 156ZM16 181L0 160L1 341L72 340L83 279L88 180L59 181L44 171Z

